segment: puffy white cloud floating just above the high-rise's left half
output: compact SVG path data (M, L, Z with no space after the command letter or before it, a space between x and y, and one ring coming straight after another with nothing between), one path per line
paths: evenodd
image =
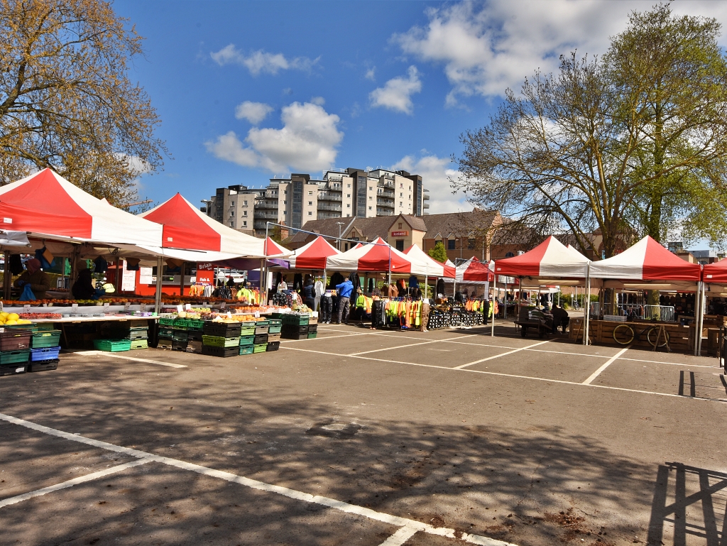
M214 156L241 166L260 167L274 174L316 172L333 166L343 133L340 118L321 105L292 103L281 113L282 129L253 127L244 142L230 131L205 142Z

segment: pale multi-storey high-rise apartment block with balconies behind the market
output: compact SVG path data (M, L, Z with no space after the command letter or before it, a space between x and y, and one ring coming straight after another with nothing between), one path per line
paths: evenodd
M302 228L327 218L422 216L429 208L422 177L388 169L332 169L321 180L310 174L271 178L265 189L217 188L203 212L236 230L265 234L267 222Z

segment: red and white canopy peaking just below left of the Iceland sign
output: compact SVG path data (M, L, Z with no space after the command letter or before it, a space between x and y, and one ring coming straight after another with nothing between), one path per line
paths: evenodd
M392 273L415 273L425 275L425 268L412 265L406 254L390 246L382 238L369 244L330 256L326 260L326 269L341 271L391 271Z

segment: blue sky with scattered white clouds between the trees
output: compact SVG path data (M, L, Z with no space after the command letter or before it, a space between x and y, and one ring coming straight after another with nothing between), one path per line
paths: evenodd
M654 1L116 1L145 37L130 76L162 119L172 158L140 196L267 185L329 167L422 174L430 212L453 195L459 135L486 124L507 87L572 49L602 53ZM727 22L727 3L675 1Z

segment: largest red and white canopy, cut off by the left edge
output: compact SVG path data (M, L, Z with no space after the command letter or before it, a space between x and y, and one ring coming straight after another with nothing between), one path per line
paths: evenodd
M0 188L0 229L106 244L161 246L161 225L97 199L51 169Z

